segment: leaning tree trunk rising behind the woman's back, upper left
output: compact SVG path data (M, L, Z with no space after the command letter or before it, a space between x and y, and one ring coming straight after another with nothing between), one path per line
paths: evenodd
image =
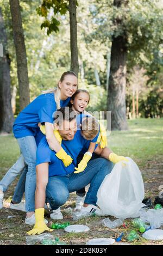
M20 93L20 111L29 104L29 81L26 46L22 28L21 9L18 0L10 0L14 44L16 49L18 88Z

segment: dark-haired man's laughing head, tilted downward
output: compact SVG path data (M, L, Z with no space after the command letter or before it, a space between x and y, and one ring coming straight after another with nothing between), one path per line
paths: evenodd
M76 113L69 107L54 112L54 129L65 141L71 141L77 131Z

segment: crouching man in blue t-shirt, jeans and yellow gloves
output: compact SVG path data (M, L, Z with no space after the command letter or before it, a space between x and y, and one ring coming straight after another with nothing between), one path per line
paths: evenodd
M59 208L65 204L69 193L80 190L88 184L90 184L90 188L80 214L96 212L97 215L102 215L101 210L96 206L97 191L105 176L111 172L113 164L106 159L98 158L90 160L84 172L73 173L77 164L77 156L83 148L89 148L90 141L86 141L80 130L77 130L77 121L72 109L68 114L65 108L61 108L57 112L55 112L55 117L62 113L63 119L59 124L58 119L54 118L55 129L59 131L62 138L62 148L72 157L73 162L70 166L65 167L56 156L57 154L49 148L46 137L42 138L37 148L36 161L36 222L34 229L30 230L28 235L41 234L45 230L51 231L43 221L45 199L52 208L51 218L54 217L56 220L57 215L61 214Z

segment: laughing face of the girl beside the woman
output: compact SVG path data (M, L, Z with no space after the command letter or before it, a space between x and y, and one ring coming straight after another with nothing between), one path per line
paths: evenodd
M71 103L73 104L72 109L78 112L84 111L89 103L89 99L90 98L87 93L80 92L79 94L77 94L74 100L71 100Z

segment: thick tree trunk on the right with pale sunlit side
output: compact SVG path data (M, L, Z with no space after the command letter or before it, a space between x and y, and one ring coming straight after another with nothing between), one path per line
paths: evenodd
M114 6L121 7L124 0L114 0ZM121 23L121 20L116 21ZM112 37L110 76L108 87L108 111L111 111L111 129L127 130L126 118L126 58L127 38L125 33Z

